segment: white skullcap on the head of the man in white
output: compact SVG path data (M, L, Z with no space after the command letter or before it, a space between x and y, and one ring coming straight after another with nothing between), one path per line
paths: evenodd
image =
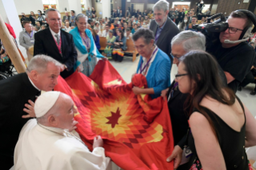
M41 117L53 107L59 98L59 91L47 91L35 101L35 116Z

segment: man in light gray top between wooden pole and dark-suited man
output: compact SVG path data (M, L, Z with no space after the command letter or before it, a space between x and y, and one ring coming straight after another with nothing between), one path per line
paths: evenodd
M28 61L33 58L33 55L30 55L30 52L28 51L28 48L31 46L34 46L35 43L35 30L32 30L32 26L30 22L23 22L23 27L25 30L22 30L22 32L19 33L19 44L26 48L26 55Z

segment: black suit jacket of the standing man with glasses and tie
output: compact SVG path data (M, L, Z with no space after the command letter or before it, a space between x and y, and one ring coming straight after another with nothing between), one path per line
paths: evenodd
M63 79L74 73L74 65L77 60L77 52L75 50L75 43L71 34L68 34L64 30L60 30L60 36L62 39L61 50L62 55L59 54L59 49L56 46L55 40L51 34L50 28L41 30L35 34L34 56L35 55L49 55L53 59L56 59L60 63L67 66L60 73Z

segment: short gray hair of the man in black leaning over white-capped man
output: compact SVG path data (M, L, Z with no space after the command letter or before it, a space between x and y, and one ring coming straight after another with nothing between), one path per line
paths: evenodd
M47 70L48 63L54 63L56 67L62 66L62 64L57 60L47 55L35 55L35 57L30 60L30 63L26 68L26 72L38 71L39 73L43 73Z

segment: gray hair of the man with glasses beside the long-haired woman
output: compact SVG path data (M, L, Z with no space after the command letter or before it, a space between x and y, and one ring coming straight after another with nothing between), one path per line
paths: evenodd
M185 52L192 50L205 51L205 35L201 32L194 32L191 30L185 30L173 37L171 42L173 45L183 45Z

